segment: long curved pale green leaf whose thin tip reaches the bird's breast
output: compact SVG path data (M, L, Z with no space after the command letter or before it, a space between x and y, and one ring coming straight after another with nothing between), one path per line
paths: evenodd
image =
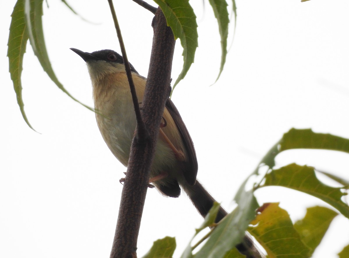
M58 81L58 78L54 74L54 71L49 60L49 56L46 50L46 44L44 39L43 25L42 25L42 15L43 15L43 0L24 0L24 16L25 22L27 24L27 32L29 35L29 41L37 56L41 66L51 80L66 93L70 98L80 103L84 107L94 111L93 108L82 104L79 100L75 99L70 93L63 87L63 85Z

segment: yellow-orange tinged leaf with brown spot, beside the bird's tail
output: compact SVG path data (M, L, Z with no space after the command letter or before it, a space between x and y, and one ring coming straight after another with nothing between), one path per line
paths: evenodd
M309 257L310 249L300 239L287 211L278 203L264 204L258 211L248 232L263 246L269 258Z

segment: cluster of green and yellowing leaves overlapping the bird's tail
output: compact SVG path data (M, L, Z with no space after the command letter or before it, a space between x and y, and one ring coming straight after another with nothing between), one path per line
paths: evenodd
M254 191L272 185L301 191L323 200L349 219L349 206L342 200L342 197L347 195L349 182L323 173L342 185L338 188L331 187L320 182L314 168L309 166L289 164L274 169L276 155L290 149L323 149L349 153L349 140L330 134L315 133L310 129L291 129L262 159L260 166L269 166L262 183L246 191L246 179L235 196L237 208L218 225L214 225L213 222L219 205L214 206L195 234L196 236L205 227L214 226L214 230L199 241L201 243L207 239L207 242L195 254L193 251L198 244L189 244L181 258L245 257L234 247L241 242L245 230L260 243L268 257L311 257L338 213L327 207L310 207L307 208L303 219L292 223L287 211L280 208L278 203L267 203L259 207ZM258 169L252 175L255 174L258 174ZM143 258L172 257L175 248L174 238L165 237L154 242L151 250ZM349 257L349 245L338 255L340 258Z

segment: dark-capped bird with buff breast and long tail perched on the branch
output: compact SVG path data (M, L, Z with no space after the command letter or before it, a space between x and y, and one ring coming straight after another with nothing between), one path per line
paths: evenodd
M102 137L114 156L127 167L136 117L122 56L113 50L83 52L70 48L87 64L92 82L96 121ZM139 100L143 99L147 79L130 63ZM179 197L181 189L198 212L205 217L215 199L196 179L198 161L194 144L181 116L170 98L165 104L163 126L159 129L149 183L164 196ZM216 222L227 212L220 207ZM248 247L251 243L247 243ZM238 246L237 246L238 247ZM244 249L243 245L240 249ZM239 249L239 248L238 248ZM241 250L240 250L241 251ZM252 257L252 256L251 256Z

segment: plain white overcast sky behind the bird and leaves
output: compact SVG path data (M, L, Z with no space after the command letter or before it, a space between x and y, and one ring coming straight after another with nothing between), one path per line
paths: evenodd
M22 73L25 124L8 73L7 39L15 1L1 12L2 123L0 129L0 257L109 257L126 171L105 145L94 113L75 103L43 72L27 45ZM119 51L107 1L44 4L44 32L54 71L74 97L92 106L84 61L70 47ZM198 178L227 210L239 185L290 128L312 128L349 138L349 2L346 0L237 1L235 40L219 81L217 23L205 1L191 1L199 48L172 100L193 138ZM115 1L128 58L146 76L152 14L132 1ZM231 34L233 29L231 28ZM230 38L231 42L231 38ZM176 43L172 77L183 65ZM348 154L294 150L278 165L297 162L348 179ZM260 204L281 202L298 220L305 208L325 205L289 189L258 190ZM175 236L183 252L202 219L185 195L164 198L149 189L138 254L153 241ZM339 215L313 257L336 257L349 243L349 223Z

